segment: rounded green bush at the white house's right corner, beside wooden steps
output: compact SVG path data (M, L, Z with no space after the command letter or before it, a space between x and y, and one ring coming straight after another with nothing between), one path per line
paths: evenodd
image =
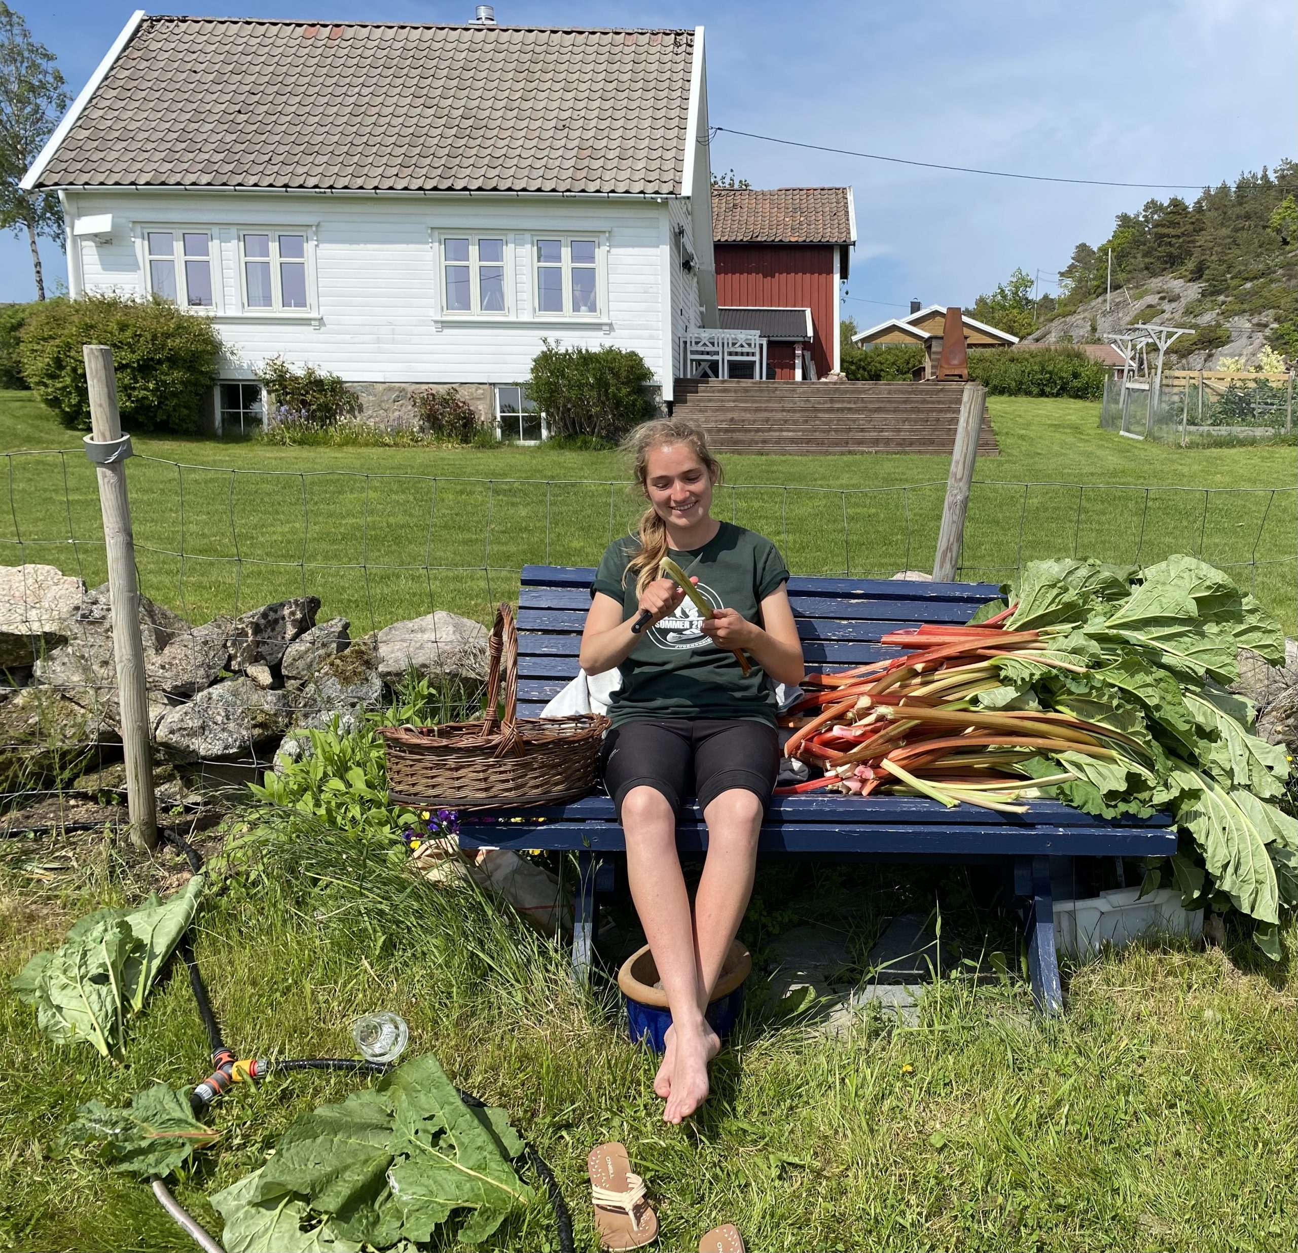
M532 361L528 394L552 435L615 441L657 415L649 394L653 371L623 348L559 348L549 340Z

